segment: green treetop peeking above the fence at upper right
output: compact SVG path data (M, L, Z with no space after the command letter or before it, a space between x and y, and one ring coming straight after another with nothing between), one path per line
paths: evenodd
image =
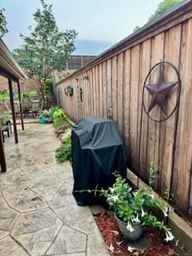
M149 18L148 22L152 22L154 19L158 18L164 14L167 10L170 10L172 7L176 6L179 2L183 0L163 0L158 4L157 10Z

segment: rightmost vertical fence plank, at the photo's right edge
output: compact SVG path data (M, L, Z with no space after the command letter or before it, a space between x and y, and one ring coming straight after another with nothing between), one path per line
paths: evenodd
M192 159L192 19L189 20L188 33L186 38L186 65L185 74L182 80L184 86L182 124L180 134L180 154L178 158L178 205L187 212L190 198L191 182L191 159Z

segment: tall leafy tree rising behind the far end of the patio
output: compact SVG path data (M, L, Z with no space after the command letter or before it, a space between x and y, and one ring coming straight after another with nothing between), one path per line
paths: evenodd
M28 76L38 79L43 99L46 78L51 77L51 71L63 69L63 63L75 50L74 39L77 33L75 30L59 31L52 5L40 1L42 10L38 9L34 13L34 28L29 27L29 36L21 34L23 45L15 49L13 54L26 69Z

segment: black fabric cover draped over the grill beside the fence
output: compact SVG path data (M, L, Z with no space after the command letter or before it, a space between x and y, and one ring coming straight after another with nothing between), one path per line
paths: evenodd
M72 130L72 164L78 205L101 203L94 193L78 191L109 187L114 170L126 177L126 154L116 122L100 116L79 120Z

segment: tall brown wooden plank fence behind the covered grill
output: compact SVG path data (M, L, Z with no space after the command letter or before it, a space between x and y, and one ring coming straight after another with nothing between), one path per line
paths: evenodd
M163 194L171 188L175 209L191 213L192 2L184 2L164 18L126 38L58 82L58 102L73 120L88 115L116 120L126 145L129 167L138 174L142 86L150 68L162 60L174 64L182 79L178 115L176 111L165 122L155 123L143 114L139 173L142 179L147 180L150 160L154 155L154 189ZM168 72L166 79L174 80L173 72ZM65 94L69 85L74 88L72 97ZM171 98L176 95L177 89L174 89ZM173 104L172 100L168 102L168 110ZM157 106L152 113L162 115Z

